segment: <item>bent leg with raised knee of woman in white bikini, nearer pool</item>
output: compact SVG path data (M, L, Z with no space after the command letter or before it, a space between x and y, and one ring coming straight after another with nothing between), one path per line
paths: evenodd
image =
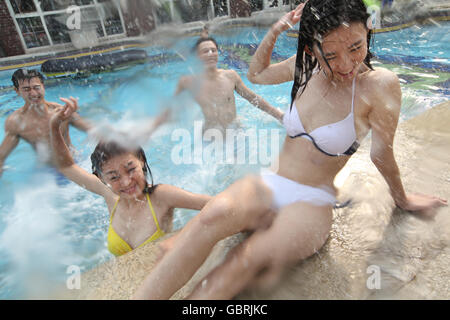
M271 191L259 177L239 180L214 197L177 234L170 250L156 264L134 298L170 298L194 275L219 240L267 225L273 215L271 201Z

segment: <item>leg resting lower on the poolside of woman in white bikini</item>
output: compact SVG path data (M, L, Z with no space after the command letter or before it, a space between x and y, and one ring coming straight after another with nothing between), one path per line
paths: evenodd
M199 283L188 299L231 299L266 271L279 278L286 266L311 256L325 243L331 206L297 202L283 207L267 230L259 230Z

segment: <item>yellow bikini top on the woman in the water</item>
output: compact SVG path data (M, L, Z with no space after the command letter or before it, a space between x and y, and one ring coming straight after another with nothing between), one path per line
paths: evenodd
M148 193L146 195L147 195L148 206L150 207L150 210L153 215L153 219L155 220L156 231L147 240L145 240L143 243L141 243L138 246L138 248L148 242L159 239L160 237L162 237L165 234L164 231L162 231L161 228L159 227L159 223L158 223L158 219L156 218L155 210L153 210L152 202L150 201L150 196L148 195ZM131 248L131 246L117 234L117 232L114 230L112 223L111 223L112 219L114 217L114 212L116 211L117 204L119 203L119 200L120 200L120 197L117 199L117 201L114 204L114 207L111 211L111 218L109 218L109 229L108 229L108 250L115 256L120 256L122 254L125 254L125 253L133 250L133 248Z

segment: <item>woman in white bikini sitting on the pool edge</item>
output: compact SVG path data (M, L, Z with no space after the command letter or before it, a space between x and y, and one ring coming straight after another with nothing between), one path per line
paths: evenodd
M297 55L271 65L278 35L300 18ZM253 281L274 283L286 266L325 243L336 202L333 180L369 130L371 159L398 207L431 215L446 205L443 199L404 191L392 149L400 85L394 73L370 64L368 20L362 0L309 0L272 26L248 77L260 84L294 80L278 172L244 178L208 202L135 298L170 298L219 240L244 230L253 233L189 298L229 299Z

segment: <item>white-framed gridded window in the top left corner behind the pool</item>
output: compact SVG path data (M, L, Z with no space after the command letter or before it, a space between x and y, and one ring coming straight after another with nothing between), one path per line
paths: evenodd
M95 29L99 38L125 34L116 0L6 0L6 4L27 49L70 43L67 22L77 14L67 12L70 6L78 7L81 31Z

